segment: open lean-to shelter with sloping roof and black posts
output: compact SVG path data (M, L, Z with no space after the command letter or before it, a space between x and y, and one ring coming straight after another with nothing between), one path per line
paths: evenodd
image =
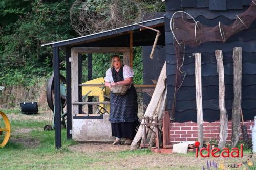
M159 30L157 45L165 45L164 17L135 23L113 30L73 38L69 40L44 44L52 46L54 64L54 92L55 92L55 145L61 147L60 125L60 83L59 83L59 49L66 51L66 86L67 86L67 139L72 138L72 116L79 114L78 104L81 104L79 95L79 57L81 53L123 53L124 64L133 66L132 47L153 45L156 32L148 29L151 27Z

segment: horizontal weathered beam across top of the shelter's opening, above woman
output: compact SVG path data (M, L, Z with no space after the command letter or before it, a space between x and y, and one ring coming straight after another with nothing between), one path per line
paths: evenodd
M130 53L128 47L73 47L72 50L77 53Z

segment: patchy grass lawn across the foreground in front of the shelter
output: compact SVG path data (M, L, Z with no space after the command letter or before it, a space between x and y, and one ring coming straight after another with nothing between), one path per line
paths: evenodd
M62 148L56 150L55 132L44 131L44 126L49 124L49 113L23 115L17 110L2 111L10 119L11 137L7 145L0 148L0 169L203 169L203 166L207 169L207 160L215 161L219 166L211 169L220 169L220 164L225 167L223 169L228 169L229 164L239 163L249 155L249 151L244 151L242 159L206 159L196 158L195 153L155 154L148 149L130 151L130 147L125 145L66 140L66 129L62 129ZM243 165L231 169L252 167Z

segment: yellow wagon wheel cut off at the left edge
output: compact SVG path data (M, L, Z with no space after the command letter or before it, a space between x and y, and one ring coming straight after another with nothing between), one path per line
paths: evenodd
M6 145L6 143L8 142L9 138L10 138L11 125L10 125L8 117L3 112L0 111L0 115L3 117L4 124L5 124L5 127L0 127L0 134L3 134L3 131L5 131L5 133L3 134L5 136L4 136L4 139L3 139L2 143L0 141L0 148L3 148Z

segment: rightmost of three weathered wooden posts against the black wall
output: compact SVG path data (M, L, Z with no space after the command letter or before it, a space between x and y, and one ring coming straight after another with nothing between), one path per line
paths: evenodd
M234 101L232 108L232 147L236 147L239 140L241 117L241 91L242 91L242 48L233 48L234 61Z

